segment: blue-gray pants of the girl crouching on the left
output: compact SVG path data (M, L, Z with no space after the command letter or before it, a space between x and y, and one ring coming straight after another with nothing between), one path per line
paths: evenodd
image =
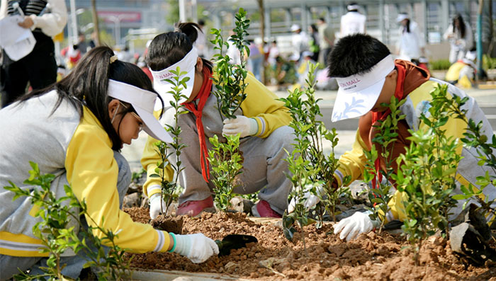
M125 160L122 154L114 151L113 157L119 166L117 189L119 192L119 207L122 207L124 196L128 192L131 183L131 170L128 161ZM66 176L66 174L63 173L61 176ZM60 180L60 183L67 184L67 180ZM85 229L88 227L85 220L83 220L82 224L84 225L81 227ZM79 233L81 233L81 231L79 231ZM81 238L82 236L79 236L79 239ZM88 246L91 247L92 245ZM13 275L19 274L19 270L26 271L30 269L30 275L41 275L43 274L43 270L41 270L40 267L47 267L47 259L48 258L0 255L0 280L10 279ZM62 257L61 264L66 265L65 268L62 269L62 275L77 279L83 269L84 263L87 261L83 251L80 251L77 256Z

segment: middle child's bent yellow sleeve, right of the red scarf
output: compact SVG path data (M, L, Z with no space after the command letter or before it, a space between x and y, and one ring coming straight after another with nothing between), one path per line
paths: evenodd
M269 91L251 73L248 73L245 82L248 84L247 98L241 103L241 109L244 116L257 120L257 137L269 137L278 127L289 125L291 115L284 103L277 100L276 94Z

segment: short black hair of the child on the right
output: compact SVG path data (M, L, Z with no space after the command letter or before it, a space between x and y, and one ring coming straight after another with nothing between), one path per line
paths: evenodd
M370 35L354 34L341 38L327 56L329 77L363 74L390 55L388 47Z

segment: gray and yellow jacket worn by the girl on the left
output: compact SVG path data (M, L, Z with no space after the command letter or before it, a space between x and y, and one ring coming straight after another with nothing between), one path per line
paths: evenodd
M78 200L85 200L88 215L103 229L118 232L115 240L121 248L136 253L167 251L169 235L152 226L133 222L119 210L117 190L118 165L113 158L112 143L100 122L84 108L83 118L73 105L57 102L51 91L14 103L0 110L0 254L9 256L47 256L33 235L39 218L29 198L13 200L13 193L3 187L9 181L32 190L23 183L31 170L29 161L38 164L40 173L56 176L51 190L65 196L64 184L70 185ZM94 223L86 217L90 226ZM101 237L101 231L94 231Z

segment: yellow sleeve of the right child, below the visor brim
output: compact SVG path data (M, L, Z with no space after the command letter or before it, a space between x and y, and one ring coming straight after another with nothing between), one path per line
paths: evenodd
M363 178L363 169L367 158L363 153L366 145L360 137L359 130L356 130L355 142L351 151L346 151L339 157L339 166L334 171L334 178L337 179L338 186L343 184L343 179L346 176L351 176L352 183L354 180Z

